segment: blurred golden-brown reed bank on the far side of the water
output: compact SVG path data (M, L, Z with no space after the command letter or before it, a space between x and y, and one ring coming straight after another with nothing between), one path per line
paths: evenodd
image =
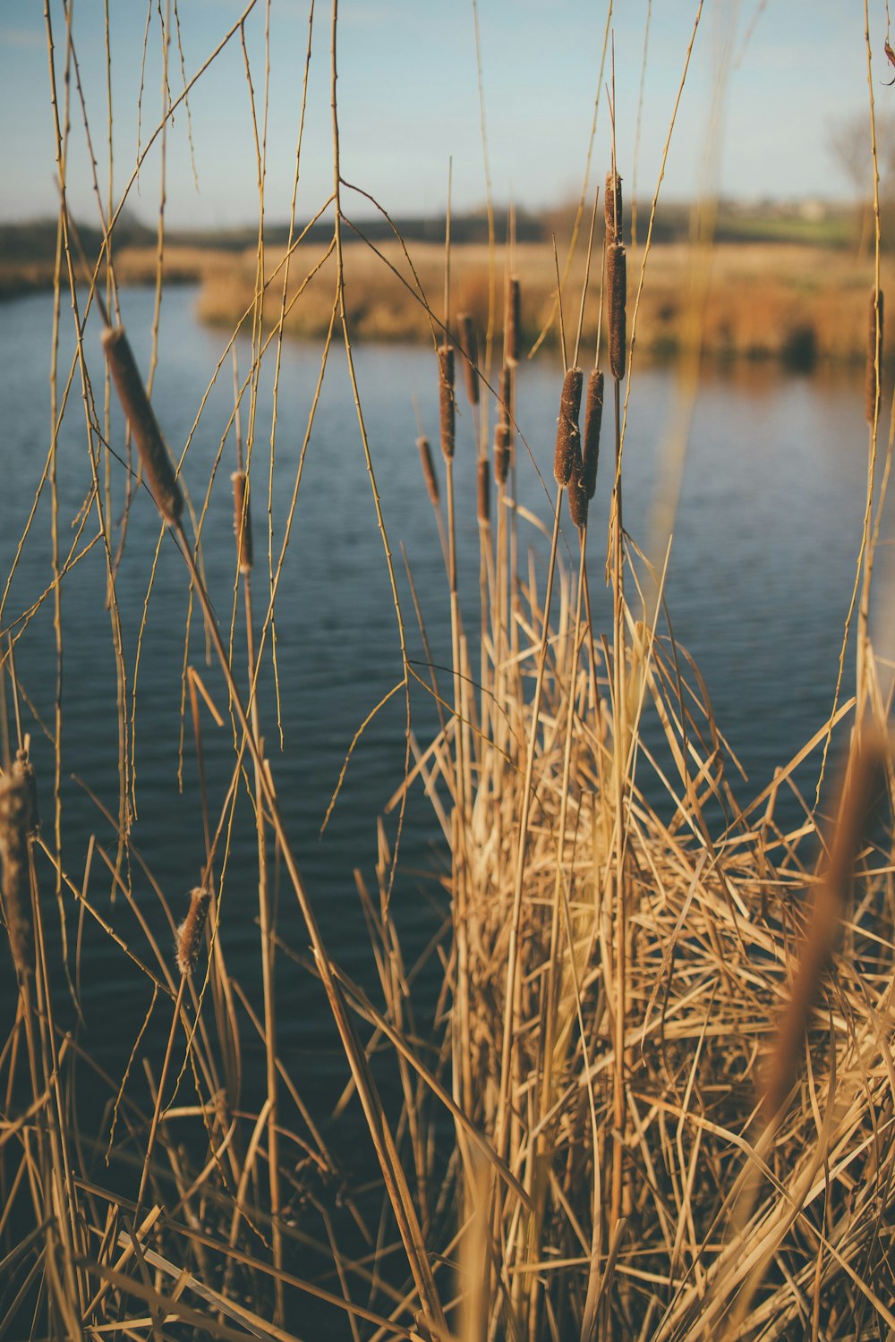
M408 247L416 278L396 242L377 244L380 256L364 243L345 247L346 294L354 338L368 341L431 341L433 325L415 297L417 279L437 321L443 309L444 250L436 243ZM284 329L288 334L319 338L329 327L334 263L325 248L305 242L290 260ZM582 251L582 248L580 248ZM282 248L267 248L264 325L272 329L283 306ZM385 259L385 263L382 259ZM628 252L629 323L640 282L643 248ZM562 262L561 262L562 263ZM522 243L515 250L522 286L525 337L533 344L554 313L554 262L543 243ZM280 267L280 268L278 268ZM392 268L389 268L392 267ZM123 247L115 254L115 275L122 286L154 285L156 247ZM470 311L484 336L488 313L488 250L480 243L452 248L451 309ZM501 338L503 247L495 250L495 337ZM52 287L48 260L0 260L0 299ZM213 326L233 329L254 305L256 252L254 248L191 247L172 244L164 254L166 285L199 286L197 315ZM566 341L574 340L581 298L584 258L573 263L564 286ZM888 260L883 289L891 280ZM662 243L651 250L637 315L641 352L668 356L700 348L722 358L770 358L793 368L828 361L859 362L867 349L868 295L872 260L859 260L843 248L819 250L800 243L719 243L707 263L695 259L686 243ZM600 287L600 259L594 258L585 306L584 340L594 341ZM302 293L299 295L299 289ZM558 341L556 321L549 337ZM499 344L496 346L499 354Z

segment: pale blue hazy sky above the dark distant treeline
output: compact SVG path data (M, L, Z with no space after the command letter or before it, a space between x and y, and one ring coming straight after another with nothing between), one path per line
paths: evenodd
M580 191L593 119L608 0L479 0L484 111L495 199L541 207ZM187 78L192 78L246 9L247 0L178 0ZM161 111L161 23L173 0L74 0L81 66L99 183L109 189L105 21L111 46L113 196L133 173L137 145ZM66 7L51 0L60 99ZM652 195L696 15L696 0L615 0L619 164L633 176L644 32L651 8L637 193ZM310 0L256 0L239 32L189 97L199 176L193 181L188 119L174 115L166 142L168 220L174 225L244 224L258 219L251 71L259 118L270 21L266 209L287 216L293 189ZM874 95L895 110L883 56L884 0L871 0ZM149 13L138 137L144 34ZM331 184L329 107L330 5L318 0L298 196L299 217ZM173 23L172 23L173 28ZM342 173L394 213L444 208L448 160L454 204L484 199L472 0L339 0L338 99ZM894 71L895 72L895 71ZM184 85L172 44L169 83ZM605 79L609 78L607 67ZM688 196L717 185L741 197L847 197L849 183L829 152L831 132L867 117L863 0L704 0L692 64L668 157L666 191ZM47 31L40 0L0 0L0 217L28 219L56 207ZM98 219L75 81L71 82L67 181L78 215ZM605 93L594 168L609 157ZM717 172L713 162L719 164ZM161 140L146 157L129 204L146 221L158 209ZM360 207L349 207L357 213ZM369 212L369 207L364 211Z

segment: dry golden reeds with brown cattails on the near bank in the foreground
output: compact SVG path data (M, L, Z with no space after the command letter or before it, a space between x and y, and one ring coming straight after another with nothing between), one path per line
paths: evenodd
M596 279L585 278L589 255L557 295L565 366L556 385L557 488L545 493L543 518L517 501L523 451L542 476L550 474L549 444L530 444L515 411L529 319L522 251L510 243L503 258L502 301L494 297L492 255L486 311L470 302L459 315L450 239L441 307L432 298L440 286L429 293L408 262L432 341L425 401L443 459L436 463L420 432L420 506L428 495L436 515L451 664L445 674L429 652L440 616L416 599L412 568L425 656L411 656L352 360L335 15L337 7L334 283L325 354L341 322L400 633L403 678L382 702L403 698L407 707L404 776L385 816L370 820L373 876L356 874L373 986L346 972L323 935L284 819L279 761L267 746L275 694L260 690L262 670L275 660L282 565L272 530L264 537L262 525L252 544L252 499L263 487L255 466L250 488L259 374L271 358L279 376L275 337L306 290L279 259L268 271L259 243L246 314L251 369L240 381L233 361L235 404L221 437L221 454L231 429L236 440L232 584L213 593L215 607L201 545L205 507L187 488L182 460L165 443L165 407L154 404L117 319L114 267L113 301L97 301L99 315L86 321L72 264L72 376L81 370L85 403L95 405L102 378L94 354L105 352L126 421L121 435L133 437L149 488L133 498L129 478L125 507L158 510L160 545L182 564L212 663L184 668L204 862L199 883L162 888L153 855L134 839L119 552L106 506L111 486L101 486L91 452L86 511L97 510L122 664L122 800L117 816L99 803L114 843L91 833L83 870L70 864L60 841L62 710L56 778L35 778L32 707L16 671L30 613L3 625L0 862L15 985L0 1041L0 1335L888 1335L894 776L887 667L874 658L867 603L857 603L855 695L840 695L804 750L781 760L773 782L743 804L731 786L737 761L723 725L672 633L666 570L644 558L624 526L625 412L643 314L633 264L625 278L613 168L602 201L602 274L592 228ZM71 227L64 209L60 224ZM76 250L74 227L71 242ZM79 264L90 271L87 258ZM279 275L272 334L271 274ZM570 299L580 314L574 345L562 311L562 301L572 310ZM861 574L870 585L878 538L879 271L870 311L868 333L861 289L855 321L868 349L871 468L856 599ZM99 321L102 336L94 330ZM585 366L585 348L596 348L593 366ZM468 413L460 417L463 389ZM111 401L103 443L110 424ZM275 424L274 403L271 436ZM90 433L95 427L94 411ZM118 447L123 462L126 447ZM455 472L460 454L475 456L468 497ZM299 484L301 467L295 493ZM589 505L601 490L611 499L609 531L589 537ZM478 590L459 576L458 519L471 521L478 537ZM288 541L287 527L283 553ZM596 564L588 564L588 545ZM58 549L54 565L54 589L62 581ZM228 597L229 640L220 617ZM240 605L242 643L233 632ZM62 659L60 644L56 654ZM419 703L435 723L425 739L413 730ZM223 776L207 769L205 713L220 727L229 717ZM812 798L800 770L812 761L823 773L835 729L836 743L848 738L840 789L821 788L819 778ZM416 815L408 809L413 793L428 800L441 840L427 945L403 941L404 888L396 879L401 836ZM51 798L43 824L39 794ZM785 794L800 808L794 827L777 819ZM256 943L258 1000L228 968L223 934L227 860L246 816L242 840L252 852L258 915L236 935L251 933ZM136 898L134 874L149 903ZM98 898L101 882L114 899ZM287 900L295 913L288 931ZM66 910L78 925L74 954ZM118 1076L91 1056L76 985L66 980L74 964L81 981L87 922L121 951L134 990L152 996ZM321 1028L325 1012L344 1062L335 1114L353 1114L348 1149L315 1113L307 1079L280 1047L284 981L291 988L299 976L317 980Z

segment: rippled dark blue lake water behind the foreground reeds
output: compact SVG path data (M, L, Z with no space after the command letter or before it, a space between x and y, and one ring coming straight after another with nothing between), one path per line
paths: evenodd
M225 346L225 336L197 325L195 293L172 290L161 317L154 405L172 448L187 442L201 397ZM148 368L152 303L149 291L122 297L125 325L138 362ZM51 299L35 295L0 306L3 424L0 440L0 573L9 572L23 523L40 480L50 439L48 368ZM71 318L63 310L60 366L71 358ZM102 393L99 323L91 318L86 344L94 389ZM247 369L247 342L238 346ZM271 494L274 549L279 549L299 450L319 370L317 346L283 346L276 424L276 463ZM403 573L405 548L425 612L436 662L448 659L448 599L432 509L423 487L415 447L413 399L433 444L437 443L436 373L432 352L417 348L360 348L357 374L370 448L382 498L389 542L399 565L405 617L413 608ZM270 366L268 366L270 365ZM660 478L659 447L674 411L672 369L636 372L625 446L625 523L645 541ZM208 399L184 467L195 503L203 499L232 409L231 365ZM272 358L260 378L254 447L255 604L264 608L266 511L270 464ZM519 370L517 419L551 490L553 437L560 369L550 357ZM102 408L101 408L102 415ZM246 424L247 413L243 413ZM113 411L113 443L122 450L122 421ZM605 439L604 433L604 439ZM596 623L608 628L602 556L611 472L604 444L598 507L592 513L590 581ZM698 659L715 714L750 778L738 782L741 800L769 781L827 718L836 660L859 550L865 487L867 428L860 374L828 372L794 376L772 366L738 365L706 373L695 407L690 451L676 515L668 601L675 633ZM440 459L437 462L440 467ZM204 523L204 556L212 600L228 627L235 557L229 474L235 466L232 432L211 490ZM111 462L113 515L123 497L123 468ZM460 576L472 612L478 593L474 450L468 412L458 425ZM81 384L75 378L59 442L59 510L63 553L72 521L89 495L91 467L86 451ZM525 450L519 451L519 498L549 515L545 484ZM83 541L95 531L95 514ZM527 537L523 529L523 538ZM144 611L160 523L141 491L131 510L118 570L129 692L133 690L137 633ZM24 545L3 616L3 628L40 596L51 580L50 495L44 490ZM531 533L543 552L543 542ZM526 541L527 544L527 541ZM577 556L577 539L568 552ZM89 788L113 813L118 808L118 725L110 617L105 609L105 561L99 545L66 576L63 617L62 793L64 864L83 880L89 836L114 859L115 836ZM168 535L148 607L140 659L136 713L137 820L133 841L150 866L176 913L196 883L203 856L203 827L189 726L185 733L184 790L178 792L178 739L184 628L188 608L185 570ZM262 721L272 758L287 828L334 957L349 973L369 977L369 943L354 891L353 868L372 880L376 817L401 778L404 707L400 696L365 733L325 837L319 827L352 737L381 695L400 678L394 611L377 530L370 482L357 429L342 352L330 357L323 393L307 446L290 544L276 605L278 670L284 749L275 729L270 670L262 690ZM242 620L242 607L240 607ZM242 624L236 627L236 664L244 667ZM419 652L419 637L413 647ZM205 664L200 621L193 615L189 659L227 718L220 675ZM267 659L270 668L270 658ZM52 749L40 726L52 727L55 643L51 603L46 601L16 644L16 671L27 692L23 727L32 734L44 833L52 835L50 785ZM847 670L845 688L853 672ZM244 683L244 672L243 672ZM415 695L415 726L425 738L431 705ZM212 813L220 807L232 768L232 730L213 727L204 715ZM72 778L76 774L82 786ZM813 774L808 772L810 780ZM216 800L215 800L216 798ZM784 800L784 808L788 803ZM243 807L242 829L223 882L221 935L231 973L258 998L256 886L254 829ZM789 812L796 815L794 807ZM411 939L423 939L432 914L419 872L440 860L436 832L423 801L411 809L403 840L399 882L401 917ZM433 847L435 845L435 847ZM137 899L150 925L166 935L154 896L137 864ZM286 888L280 931L299 949L306 935ZM145 942L121 896L113 905L111 882L94 858L90 895L138 953ZM70 933L74 905L67 899ZM5 951L3 953L5 957ZM148 1005L148 990L134 988L134 972L119 949L90 919L85 922L81 996L89 1049L110 1070L121 1067ZM9 994L4 1001L9 1002ZM279 980L280 1049L291 1071L307 1078L321 1110L338 1092L344 1066L325 1031L317 986L287 962ZM164 1013L162 1013L164 1015ZM164 1035L166 1020L160 1031ZM150 1037L150 1036L149 1036Z

